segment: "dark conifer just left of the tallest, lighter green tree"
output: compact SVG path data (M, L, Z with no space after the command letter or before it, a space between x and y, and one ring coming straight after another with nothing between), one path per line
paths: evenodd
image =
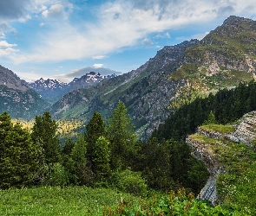
M86 125L85 140L88 143L87 156L92 161L93 154L95 153L95 143L99 137L105 137L106 124L102 118L101 113L94 112L93 117Z

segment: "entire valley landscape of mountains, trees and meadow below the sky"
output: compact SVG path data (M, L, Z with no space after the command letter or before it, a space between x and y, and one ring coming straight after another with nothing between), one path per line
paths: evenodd
M229 16L118 76L0 66L0 214L256 214L255 48Z

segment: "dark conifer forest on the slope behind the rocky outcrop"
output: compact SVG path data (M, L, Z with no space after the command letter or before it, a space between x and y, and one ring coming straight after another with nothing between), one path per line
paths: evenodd
M227 124L244 114L256 110L256 82L240 83L233 89L221 89L207 98L195 98L193 102L172 112L151 137L158 141L174 138L185 140L197 127L207 121L212 112L216 123Z

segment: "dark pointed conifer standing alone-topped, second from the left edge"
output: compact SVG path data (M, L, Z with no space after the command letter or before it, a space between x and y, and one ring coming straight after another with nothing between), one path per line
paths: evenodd
M51 119L49 111L44 112L43 116L36 116L31 137L34 143L42 146L43 156L48 164L61 160L61 146L56 130L56 120Z

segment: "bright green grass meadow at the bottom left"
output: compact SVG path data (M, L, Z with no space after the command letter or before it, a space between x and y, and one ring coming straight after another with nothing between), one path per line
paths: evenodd
M102 215L130 194L91 187L35 187L0 190L0 215Z

